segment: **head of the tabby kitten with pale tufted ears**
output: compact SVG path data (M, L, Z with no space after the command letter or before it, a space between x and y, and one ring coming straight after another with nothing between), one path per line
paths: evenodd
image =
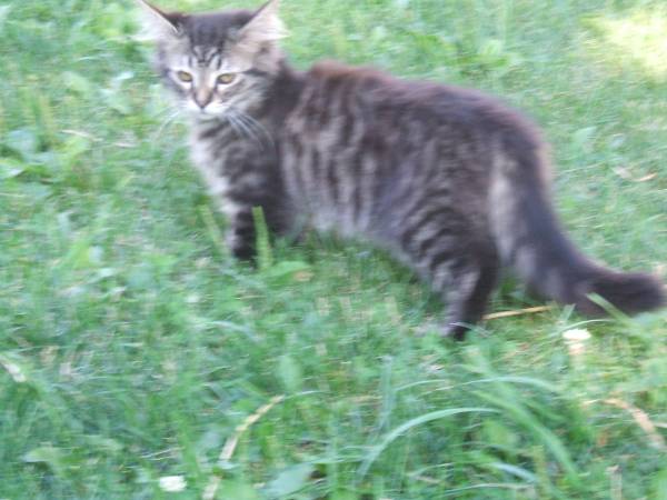
M280 68L286 31L279 0L257 11L165 12L145 0L145 32L157 43L156 66L181 104L199 119L245 112L261 101Z

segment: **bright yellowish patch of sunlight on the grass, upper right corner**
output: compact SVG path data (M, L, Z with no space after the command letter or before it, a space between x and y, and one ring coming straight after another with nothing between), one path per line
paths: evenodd
M588 48L596 59L615 69L667 78L666 8L636 9L621 18L601 14L587 24L595 36Z

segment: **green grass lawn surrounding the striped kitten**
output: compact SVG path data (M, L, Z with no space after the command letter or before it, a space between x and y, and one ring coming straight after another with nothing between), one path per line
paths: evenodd
M661 4L283 11L299 67L369 63L526 110L578 243L665 277ZM665 312L585 323L579 358L563 332L584 319L563 308L454 344L436 336L439 301L367 247L316 239L236 264L185 127L165 123L135 11L0 1L0 499L195 499L211 476L227 500L667 499L666 452L608 402L667 437ZM506 284L492 309L534 303ZM160 488L171 476L183 491Z

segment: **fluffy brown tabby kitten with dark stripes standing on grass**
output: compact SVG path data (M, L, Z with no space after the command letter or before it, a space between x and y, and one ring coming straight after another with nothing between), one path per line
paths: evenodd
M591 294L626 313L665 303L656 278L607 270L565 236L544 140L495 98L337 62L297 71L279 48L279 0L197 14L138 1L237 258L255 257L255 207L276 234L364 238L442 294L442 334L456 339L482 318L504 266L590 316L605 313Z

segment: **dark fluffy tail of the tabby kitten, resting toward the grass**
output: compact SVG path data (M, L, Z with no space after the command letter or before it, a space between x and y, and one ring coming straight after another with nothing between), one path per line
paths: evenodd
M504 263L538 293L589 316L605 313L590 294L628 314L665 306L657 278L605 269L574 246L550 207L539 147L521 146L514 160L495 166L491 179L489 213Z

